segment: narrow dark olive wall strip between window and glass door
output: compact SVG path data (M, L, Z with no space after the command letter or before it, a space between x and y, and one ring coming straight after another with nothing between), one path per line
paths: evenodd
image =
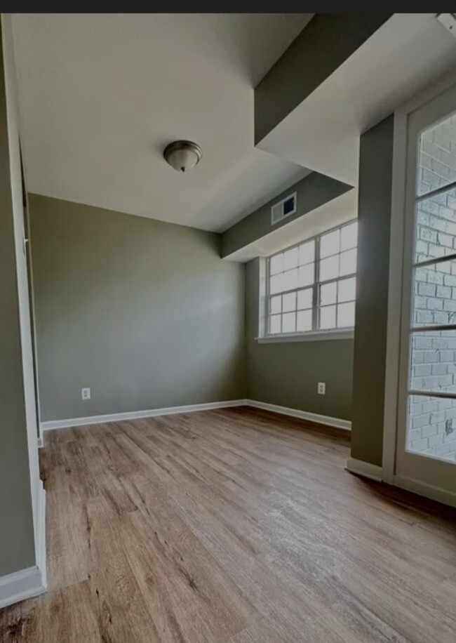
M394 117L361 136L351 457L382 465Z

